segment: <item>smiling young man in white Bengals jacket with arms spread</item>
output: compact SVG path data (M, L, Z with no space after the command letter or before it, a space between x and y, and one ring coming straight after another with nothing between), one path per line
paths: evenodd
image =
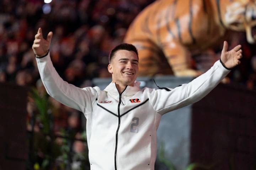
M108 71L112 83L104 90L80 89L63 81L54 69L49 55L52 35L50 32L43 39L39 28L35 36L32 48L39 73L50 96L84 113L92 170L153 170L161 116L206 96L242 57L241 45L227 51L224 41L221 60L190 83L175 89L140 89L135 81L139 68L137 49L121 44L110 53Z

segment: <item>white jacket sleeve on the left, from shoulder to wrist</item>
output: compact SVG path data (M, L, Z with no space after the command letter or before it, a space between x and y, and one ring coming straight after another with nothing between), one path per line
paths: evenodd
M64 81L53 67L50 55L36 58L39 74L47 93L59 102L86 114L92 110L99 87L76 87Z

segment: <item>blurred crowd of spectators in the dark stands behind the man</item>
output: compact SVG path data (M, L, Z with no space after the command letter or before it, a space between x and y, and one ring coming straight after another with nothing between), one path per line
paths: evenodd
M108 53L123 41L135 16L154 0L1 0L0 1L0 83L34 86L45 92L40 81L32 44L39 27L44 38L53 32L50 54L60 76L79 87L91 86L95 77L107 78ZM256 51L244 33L234 33L231 46L242 44L243 58L230 74L231 82L256 88ZM218 52L218 51L217 51ZM42 92L43 93L43 92ZM35 110L28 100L28 118ZM50 98L54 131L73 129L81 136L85 118ZM29 121L28 121L29 122ZM34 126L40 131L40 120ZM31 130L28 124L28 130ZM81 138L81 137L79 137ZM61 141L61 140L60 140ZM74 142L74 152L84 145Z

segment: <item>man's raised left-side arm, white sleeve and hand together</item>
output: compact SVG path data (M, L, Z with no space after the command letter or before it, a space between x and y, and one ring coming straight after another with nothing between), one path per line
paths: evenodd
M32 46L43 84L50 96L66 106L78 109L86 116L86 114L91 112L92 103L95 101L96 93L99 88L86 87L80 89L72 84L68 84L60 78L53 67L49 55L49 46L52 36L53 33L50 32L47 39L44 39L42 29L39 28Z

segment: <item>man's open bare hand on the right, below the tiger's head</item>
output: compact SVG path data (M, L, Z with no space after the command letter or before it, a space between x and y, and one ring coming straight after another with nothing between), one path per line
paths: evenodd
M240 59L242 58L241 45L237 45L234 49L228 50L228 42L224 41L222 53L220 56L221 61L226 66L226 68L233 68L241 63Z

